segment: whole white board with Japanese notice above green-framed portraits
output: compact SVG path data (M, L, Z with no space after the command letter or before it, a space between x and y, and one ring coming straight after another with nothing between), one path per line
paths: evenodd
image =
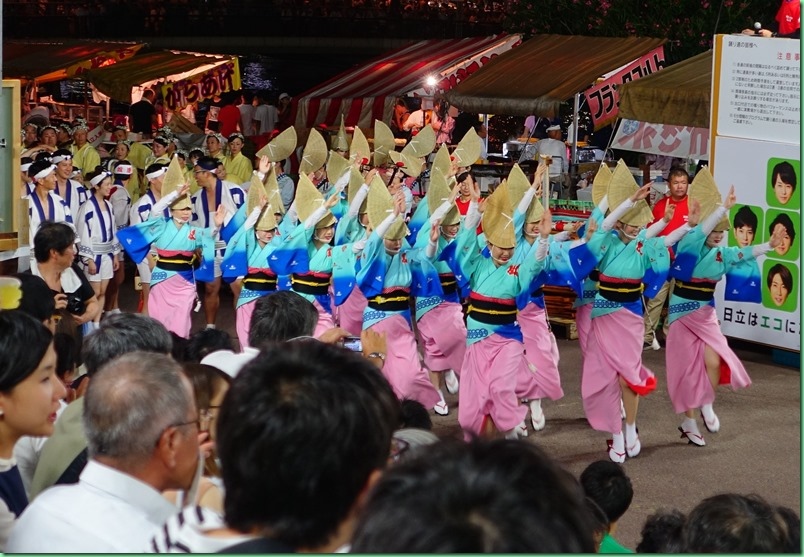
M759 303L716 306L723 333L801 350L800 43L745 35L715 37L710 143L715 181L737 204L730 246L765 243L781 225L782 243L757 259Z

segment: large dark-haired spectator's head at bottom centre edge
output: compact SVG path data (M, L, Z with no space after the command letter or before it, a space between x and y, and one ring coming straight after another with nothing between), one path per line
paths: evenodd
M593 553L584 497L541 449L442 442L389 468L361 509L355 553Z

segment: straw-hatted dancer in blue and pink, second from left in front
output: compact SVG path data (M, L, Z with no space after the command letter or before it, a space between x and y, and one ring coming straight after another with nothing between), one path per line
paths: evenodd
M275 181L274 181L275 183ZM276 191L274 198L277 198ZM268 192L259 177L251 177L246 209L248 218L226 245L223 278L243 277L240 296L235 303L235 329L240 347L248 346L254 303L262 296L276 292L279 277L271 270L270 255L282 243L277 230L276 209L269 203Z

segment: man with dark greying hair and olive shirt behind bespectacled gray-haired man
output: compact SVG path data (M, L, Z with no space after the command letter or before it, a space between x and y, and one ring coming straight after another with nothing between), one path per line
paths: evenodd
M136 313L118 313L107 317L100 329L84 340L82 355L87 368L84 385L104 364L117 356L141 350L170 354L173 339L167 329L152 317ZM56 421L53 435L45 442L31 480L30 498L55 484L78 481L87 463L87 438L81 416L84 399L72 402Z

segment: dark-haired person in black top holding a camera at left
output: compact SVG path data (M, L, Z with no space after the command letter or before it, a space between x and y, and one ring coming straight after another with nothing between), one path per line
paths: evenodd
M56 310L72 316L76 326L100 312L98 298L86 276L75 265L75 230L63 222L44 221L34 236L35 275L54 292Z

